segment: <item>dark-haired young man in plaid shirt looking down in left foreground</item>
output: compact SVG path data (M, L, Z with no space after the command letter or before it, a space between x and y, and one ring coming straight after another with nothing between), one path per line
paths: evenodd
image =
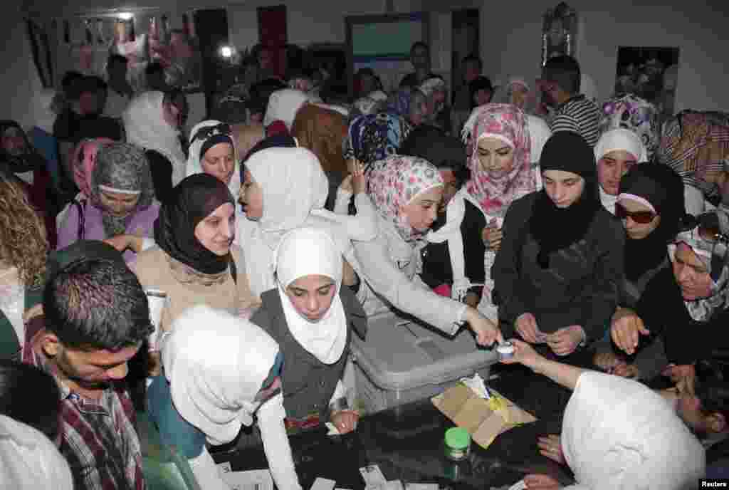
M53 262L56 260L56 262ZM124 378L152 332L149 306L119 252L79 241L50 257L43 314L28 322L23 362L61 389L61 453L77 489L142 489L135 411Z

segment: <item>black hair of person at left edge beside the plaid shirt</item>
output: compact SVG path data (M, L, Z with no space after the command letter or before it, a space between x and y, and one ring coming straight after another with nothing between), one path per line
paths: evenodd
M58 437L61 389L50 374L22 362L0 359L0 413Z

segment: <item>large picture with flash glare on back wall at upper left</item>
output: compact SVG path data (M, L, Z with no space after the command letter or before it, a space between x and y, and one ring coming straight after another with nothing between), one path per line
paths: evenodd
M99 18L64 19L58 33L56 70L106 76L109 55L127 58L128 82L133 90L146 90L147 69L159 63L164 83L185 92L202 90L202 57L192 12L122 12Z

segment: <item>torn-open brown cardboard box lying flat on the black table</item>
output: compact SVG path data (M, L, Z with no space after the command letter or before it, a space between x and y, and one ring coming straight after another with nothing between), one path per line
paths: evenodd
M490 389L491 398L481 398L465 384L459 383L433 397L433 405L457 426L463 427L482 448L512 427L537 421L508 398Z

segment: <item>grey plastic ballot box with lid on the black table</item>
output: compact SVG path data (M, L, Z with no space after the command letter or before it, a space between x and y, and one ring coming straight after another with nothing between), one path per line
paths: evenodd
M475 373L486 380L499 360L467 327L451 337L392 311L370 316L366 340L352 335L351 355L356 408L365 413L434 397Z

